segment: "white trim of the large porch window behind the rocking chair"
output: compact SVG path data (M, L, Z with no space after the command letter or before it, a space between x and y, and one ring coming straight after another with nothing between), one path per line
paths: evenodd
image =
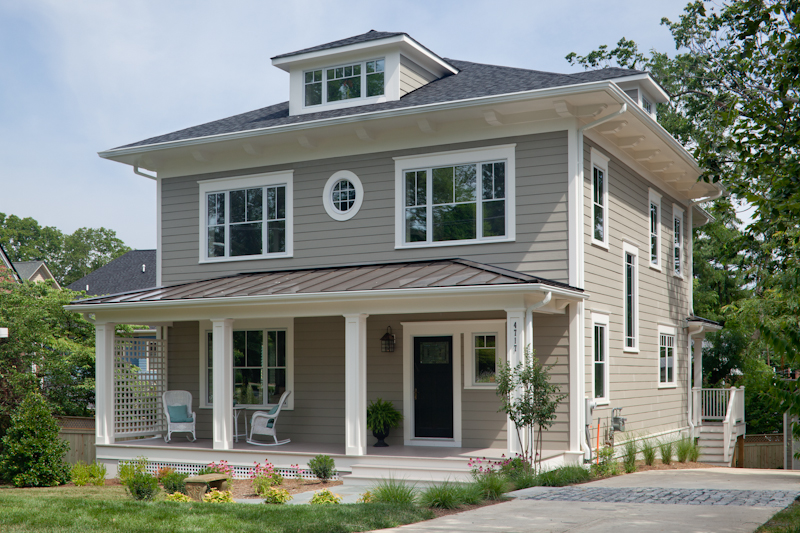
M207 335L213 330L211 321L201 321L199 324L199 337L200 337L200 350L198 350L199 365L199 409L213 409L214 404L208 403L208 342ZM267 320L248 319L236 320L233 325L235 331L264 331L264 342L266 342L266 332L268 330L285 330L286 331L286 390L292 391L292 394L286 399L283 409L292 411L294 410L294 398L296 396L294 389L294 318L270 318ZM267 357L264 354L263 368L266 371ZM231 385L233 386L233 385ZM266 405L266 404L265 404ZM253 407L257 409L259 405ZM248 407L248 409L250 409Z

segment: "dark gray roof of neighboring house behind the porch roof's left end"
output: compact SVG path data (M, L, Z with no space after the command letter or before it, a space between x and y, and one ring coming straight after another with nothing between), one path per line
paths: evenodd
M100 296L149 289L156 285L156 251L132 250L70 283L67 288L86 291L89 296Z

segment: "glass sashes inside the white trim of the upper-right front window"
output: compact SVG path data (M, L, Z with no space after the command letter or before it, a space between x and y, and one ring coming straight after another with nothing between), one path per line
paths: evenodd
M403 171L406 244L505 238L505 161Z

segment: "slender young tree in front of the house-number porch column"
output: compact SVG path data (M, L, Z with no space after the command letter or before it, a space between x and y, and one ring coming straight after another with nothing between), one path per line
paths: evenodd
M552 427L558 404L567 395L560 394L560 387L550 383L553 365L542 365L534 355L535 352L528 346L523 361L517 366L498 363L497 395L502 402L500 410L508 415L516 427L523 457L534 465L534 472L537 472L541 468L544 432Z

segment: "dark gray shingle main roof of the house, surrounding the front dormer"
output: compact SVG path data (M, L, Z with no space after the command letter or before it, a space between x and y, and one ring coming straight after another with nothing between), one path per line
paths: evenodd
M400 100L295 116L289 116L289 102L281 102L222 120L215 120L199 126L167 133L166 135L151 137L143 141L120 146L119 148L133 148L226 133L299 124L313 120L345 117L375 111L410 108L427 104L451 102L483 96L496 96L536 89L564 87L592 81L622 78L635 74L644 74L644 72L640 70L622 68L604 68L576 74L558 74L540 70L470 63L468 61L459 61L455 59L446 59L446 61L458 68L460 72L434 80L406 94L400 98Z

